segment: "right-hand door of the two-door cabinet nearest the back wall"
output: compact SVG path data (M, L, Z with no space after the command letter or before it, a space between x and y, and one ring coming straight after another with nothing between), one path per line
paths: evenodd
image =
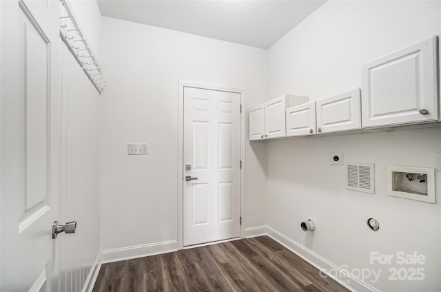
M265 103L265 138L285 137L286 96Z

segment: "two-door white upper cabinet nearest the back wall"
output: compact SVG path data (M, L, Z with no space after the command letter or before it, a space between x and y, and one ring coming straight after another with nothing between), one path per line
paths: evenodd
M307 96L285 94L254 107L249 111L249 140L285 137L287 107L307 101Z

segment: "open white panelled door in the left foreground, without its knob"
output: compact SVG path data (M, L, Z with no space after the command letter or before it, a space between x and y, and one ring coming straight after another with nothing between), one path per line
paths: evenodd
M0 5L0 291L59 291L59 1Z

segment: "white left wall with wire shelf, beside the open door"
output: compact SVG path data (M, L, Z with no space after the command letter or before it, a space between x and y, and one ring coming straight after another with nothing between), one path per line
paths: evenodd
M99 58L101 14L94 0L69 1ZM61 42L61 41L60 41ZM96 91L68 48L63 49L63 125L60 223L76 220L74 236L60 236L61 290L85 291L99 256L99 102ZM85 287L86 286L86 287Z

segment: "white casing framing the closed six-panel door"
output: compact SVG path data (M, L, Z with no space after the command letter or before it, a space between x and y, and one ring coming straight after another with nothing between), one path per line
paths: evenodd
M178 250L183 249L183 152L184 152L184 89L185 87L199 88L202 90L217 90L240 94L240 105L243 112L240 113L240 238L245 236L245 90L236 87L209 85L193 82L178 82Z

